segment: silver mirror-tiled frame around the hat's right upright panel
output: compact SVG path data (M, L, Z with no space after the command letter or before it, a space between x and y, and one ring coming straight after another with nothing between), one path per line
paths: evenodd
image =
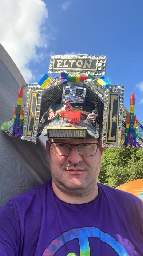
M120 93L117 144L106 143L107 115L108 115L108 112L110 111L108 109L108 95L110 92ZM105 93L104 93L104 111L103 111L103 127L102 127L102 146L103 147L116 147L116 148L120 147L122 122L123 122L123 110L124 110L123 107L124 107L124 86L110 85L109 88L105 89Z

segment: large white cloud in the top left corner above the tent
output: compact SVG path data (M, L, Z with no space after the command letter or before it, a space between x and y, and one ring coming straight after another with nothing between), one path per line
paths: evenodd
M45 30L42 27L48 11L42 0L1 0L0 42L9 53L26 82L32 81L28 63L43 59L36 47L47 47Z

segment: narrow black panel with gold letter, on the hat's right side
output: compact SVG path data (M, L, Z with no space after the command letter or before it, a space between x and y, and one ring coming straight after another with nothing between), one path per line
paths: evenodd
M106 143L109 144L117 143L118 139L119 97L120 93L112 92L108 96Z

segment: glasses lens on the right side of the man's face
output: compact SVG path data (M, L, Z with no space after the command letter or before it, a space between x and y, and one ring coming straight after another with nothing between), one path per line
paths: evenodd
M93 156L96 154L98 145L96 144L80 144L78 145L78 151L82 156Z

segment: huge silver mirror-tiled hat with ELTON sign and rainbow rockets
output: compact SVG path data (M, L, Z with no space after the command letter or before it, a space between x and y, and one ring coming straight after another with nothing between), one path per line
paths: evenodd
M35 143L41 134L49 139L89 135L101 137L102 146L120 147L124 138L125 146L129 142L130 147L142 148L143 127L134 116L134 100L128 112L124 86L112 85L104 77L106 64L103 55L52 55L48 73L56 78L45 74L39 83L29 84L24 107L20 88L14 116L1 129Z

